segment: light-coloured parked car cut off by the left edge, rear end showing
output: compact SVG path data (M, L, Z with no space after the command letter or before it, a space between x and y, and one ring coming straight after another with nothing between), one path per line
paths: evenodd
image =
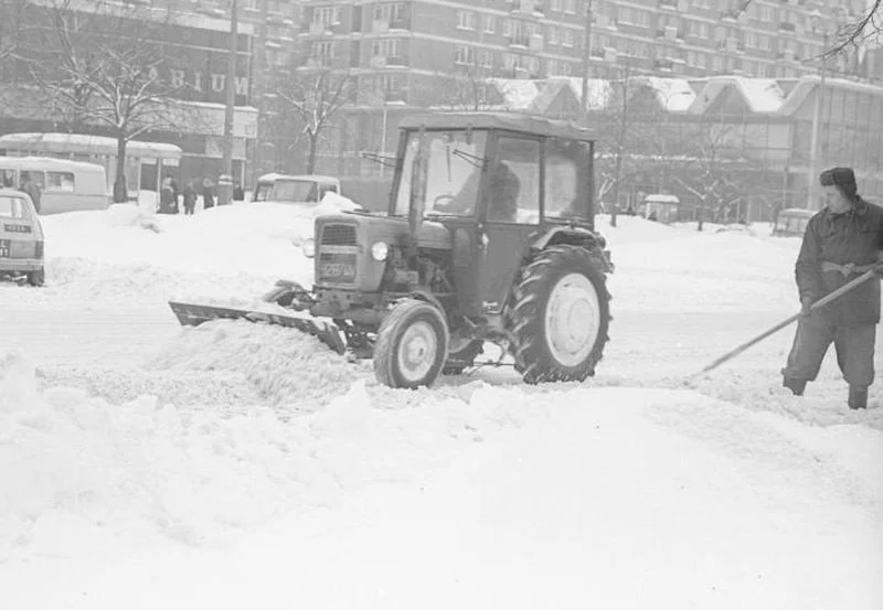
M0 190L0 276L26 277L31 286L42 286L43 226L28 194Z

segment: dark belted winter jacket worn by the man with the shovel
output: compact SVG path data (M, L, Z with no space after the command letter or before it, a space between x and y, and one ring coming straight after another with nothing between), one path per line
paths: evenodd
M849 212L833 214L822 210L809 220L795 277L800 298L813 301L861 275L842 266L873 265L883 250L883 208L859 199ZM831 269L831 265L841 269ZM848 272L843 272L848 271ZM822 308L822 314L840 325L880 322L880 280L874 278Z

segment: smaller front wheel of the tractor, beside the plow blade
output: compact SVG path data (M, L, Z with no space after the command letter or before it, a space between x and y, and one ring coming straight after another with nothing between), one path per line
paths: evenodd
M404 299L381 322L374 342L374 375L390 387L432 385L448 356L445 312L418 299Z

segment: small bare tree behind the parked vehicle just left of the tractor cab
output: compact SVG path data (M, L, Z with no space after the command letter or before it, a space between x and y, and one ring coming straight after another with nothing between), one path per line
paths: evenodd
M333 127L337 114L355 96L355 77L348 71L330 67L307 68L297 74L289 87L277 89L276 95L286 109L294 111L304 125L307 138L307 173L316 172L316 157L325 131Z

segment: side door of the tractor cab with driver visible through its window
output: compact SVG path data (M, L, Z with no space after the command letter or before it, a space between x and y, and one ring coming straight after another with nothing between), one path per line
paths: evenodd
M542 141L500 132L491 146L476 260L481 307L486 313L499 313L540 231Z

